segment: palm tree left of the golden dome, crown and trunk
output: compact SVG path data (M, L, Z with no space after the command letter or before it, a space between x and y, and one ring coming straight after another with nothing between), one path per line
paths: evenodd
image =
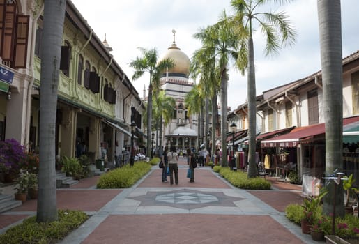
M148 85L148 98L147 98L147 157L151 157L151 121L152 121L152 93L153 90L158 89L160 75L166 68L173 68L174 61L171 59L163 59L158 61L158 52L155 47L153 49L144 49L139 47L142 52L142 57L138 57L130 62L130 67L135 68L135 73L132 75L132 79L139 79L144 73L148 72L150 75L150 84Z

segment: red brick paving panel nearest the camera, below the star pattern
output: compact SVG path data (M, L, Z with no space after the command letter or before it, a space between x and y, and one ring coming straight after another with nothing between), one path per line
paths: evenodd
M303 243L269 216L109 215L83 244Z

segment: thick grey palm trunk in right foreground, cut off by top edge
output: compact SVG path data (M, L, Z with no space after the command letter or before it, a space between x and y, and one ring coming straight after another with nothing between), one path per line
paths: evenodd
M342 167L343 142L343 81L342 81L342 28L340 0L318 1L319 40L323 78L323 108L326 120L326 175ZM334 191L333 181L330 192ZM344 217L343 188L335 192L335 208ZM333 213L334 195L324 197L323 212Z

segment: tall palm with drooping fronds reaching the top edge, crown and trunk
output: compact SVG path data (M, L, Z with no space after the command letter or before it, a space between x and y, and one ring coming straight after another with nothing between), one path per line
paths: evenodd
M289 0L288 0L289 1ZM248 178L257 176L257 167L255 162L256 153L256 78L254 71L254 45L253 32L255 31L254 22L259 24L261 32L266 36L266 55L277 53L282 46L291 45L295 38L296 32L288 22L285 13L263 13L257 12L257 8L263 6L269 0L231 0L231 7L236 14L231 18L247 30L247 44L241 43L240 47L247 49L247 56L240 55L240 58L247 58L247 100L248 100ZM286 0L272 0L273 3L284 3ZM243 54L243 52L240 52ZM243 63L243 62L239 62Z

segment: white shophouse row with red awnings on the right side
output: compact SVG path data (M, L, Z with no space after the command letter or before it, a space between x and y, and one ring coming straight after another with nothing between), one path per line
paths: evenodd
M359 52L347 56L342 63L343 146L346 148L343 170L359 178ZM314 185L325 171L321 71L263 92L257 113L262 116L261 134L257 136L260 160L266 161L266 167L275 174L284 174L284 165L296 165L307 187L305 192L314 194ZM346 130L350 130L349 134Z

